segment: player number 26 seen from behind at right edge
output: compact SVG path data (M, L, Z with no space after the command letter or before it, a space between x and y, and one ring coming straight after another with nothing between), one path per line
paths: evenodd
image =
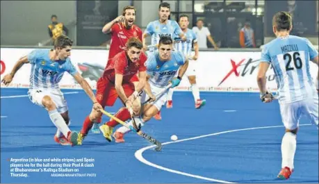
M318 51L306 38L289 35L292 18L288 12L277 12L272 27L277 38L263 48L257 83L261 100L271 102L272 94L265 87L265 73L271 64L278 85L281 119L286 128L281 142L282 162L278 178L288 179L294 169L300 117L305 115L318 128L318 94L309 71L309 60L318 65Z

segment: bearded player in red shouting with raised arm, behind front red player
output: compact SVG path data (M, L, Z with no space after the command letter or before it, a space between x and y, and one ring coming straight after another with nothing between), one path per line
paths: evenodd
M129 38L138 37L138 39L142 41L142 30L134 24L135 19L136 9L134 6L125 6L122 15L108 22L108 24L102 28L103 33L111 33L112 35L111 47L108 51L108 60L111 60L117 53L125 50L125 44ZM108 63L106 67L108 67ZM92 133L100 133L99 123L101 122L96 122L92 126Z

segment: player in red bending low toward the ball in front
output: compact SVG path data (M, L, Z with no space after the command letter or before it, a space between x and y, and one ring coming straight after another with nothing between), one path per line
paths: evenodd
M138 38L131 37L126 43L126 50L117 53L113 59L109 60L103 76L97 82L96 98L103 108L113 106L117 97L120 97L122 103L125 104L126 108L120 108L115 115L122 121L131 118L129 108L133 108L136 115L140 110L140 102L137 97L145 85L145 62L147 60L145 53L142 52L142 47L142 42ZM137 105L133 106L133 103ZM92 109L90 115L83 122L78 136L78 144L82 144L83 138L88 134L93 122L101 122L101 112L95 109ZM113 127L117 124L114 119L111 119L99 127L109 142L112 141Z

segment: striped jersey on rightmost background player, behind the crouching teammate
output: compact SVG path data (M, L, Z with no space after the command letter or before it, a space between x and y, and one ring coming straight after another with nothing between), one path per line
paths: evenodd
M179 35L174 34L174 48L177 49L177 51L183 52L185 56L191 56L193 43L197 43L197 36L195 32L189 28L187 28L184 35L187 37L186 41L181 40Z

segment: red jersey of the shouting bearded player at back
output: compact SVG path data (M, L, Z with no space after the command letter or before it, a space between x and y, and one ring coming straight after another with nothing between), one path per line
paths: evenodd
M108 60L112 59L120 51L125 50L125 44L129 38L138 37L142 41L142 30L138 26L133 25L130 29L126 29L122 22L113 24L111 35L112 40L108 51Z

